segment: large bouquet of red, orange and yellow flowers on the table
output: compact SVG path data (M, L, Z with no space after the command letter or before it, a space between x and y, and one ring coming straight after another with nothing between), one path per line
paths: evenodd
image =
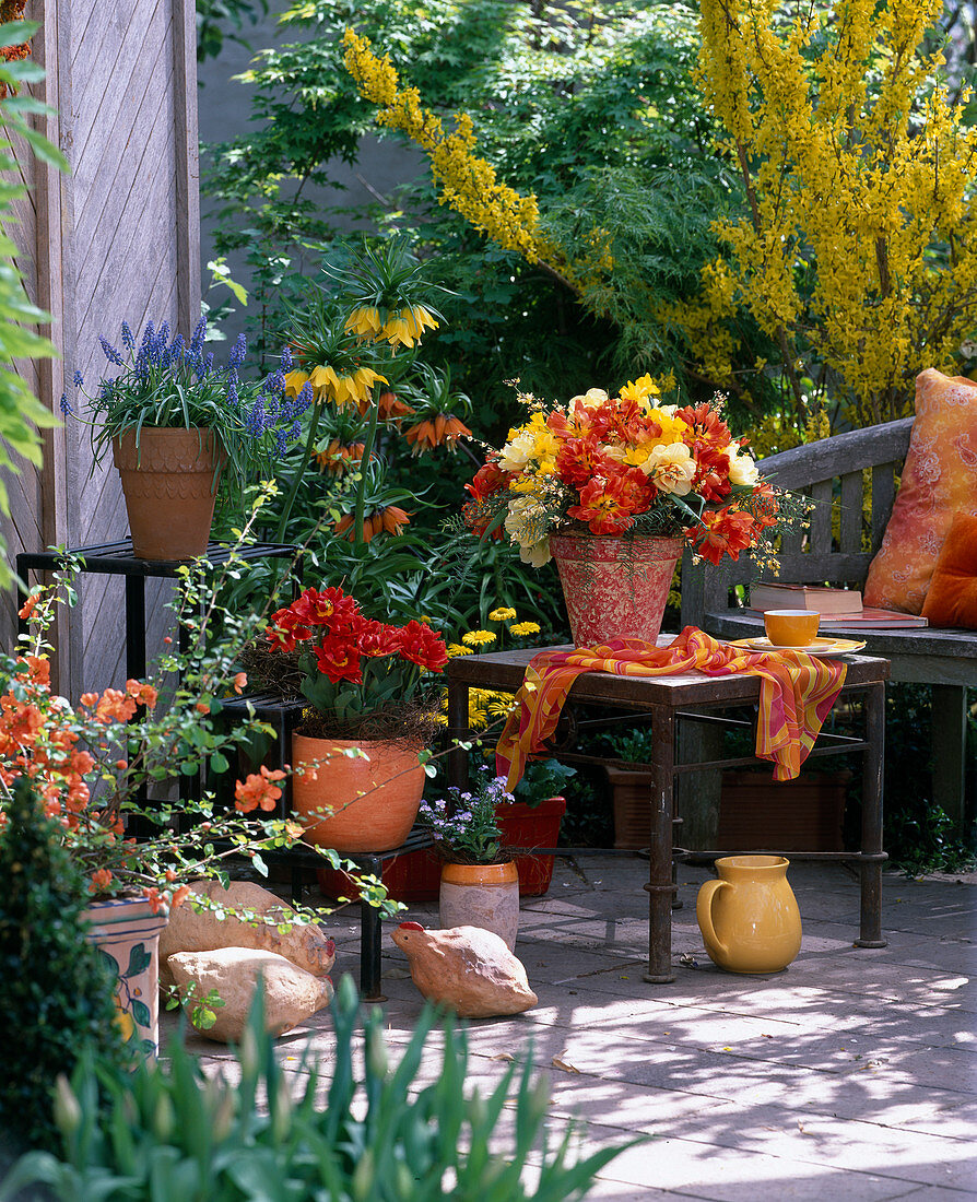
M769 552L765 531L791 519L719 399L666 405L645 375L616 397L591 388L549 410L530 394L519 400L530 418L465 486L463 518L482 536L505 526L536 567L556 531L680 537L719 564Z

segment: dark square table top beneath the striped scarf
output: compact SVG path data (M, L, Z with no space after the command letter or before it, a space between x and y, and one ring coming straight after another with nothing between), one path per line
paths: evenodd
M660 635L659 647L668 647L675 635ZM448 661L449 682L477 689L500 689L516 692L523 683L526 665L541 651L571 651L572 644L558 647L524 647L511 651L488 651L484 655L458 655ZM889 678L889 661L875 655L846 655L848 666L844 690L880 684ZM574 701L604 702L635 706L696 706L725 702L755 702L759 697L761 678L746 672L714 677L692 671L665 677L622 677L609 672L582 672L573 682L570 696Z

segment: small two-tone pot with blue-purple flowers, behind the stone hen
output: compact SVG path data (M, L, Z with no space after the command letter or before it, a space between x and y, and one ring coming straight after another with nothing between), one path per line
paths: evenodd
M483 927L510 950L519 929L519 874L502 846L499 810L512 803L501 776L482 768L471 792L423 801L418 821L434 835L443 859L440 921L448 927Z

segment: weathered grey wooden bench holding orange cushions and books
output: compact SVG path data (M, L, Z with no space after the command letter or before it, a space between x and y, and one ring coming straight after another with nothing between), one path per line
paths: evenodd
M778 488L808 494L816 504L808 531L785 536L780 581L792 584L847 584L863 588L895 499L895 480L909 450L912 418L838 434L759 463ZM868 495L866 495L868 493ZM868 502L868 504L866 504ZM869 549L866 549L866 547ZM735 585L756 575L750 559L722 567L693 564L681 570L681 623L722 638L762 629L743 612ZM866 654L892 662L892 679L933 685L933 798L964 831L966 787L966 688L977 686L977 631L915 627L866 630L832 627L864 638Z

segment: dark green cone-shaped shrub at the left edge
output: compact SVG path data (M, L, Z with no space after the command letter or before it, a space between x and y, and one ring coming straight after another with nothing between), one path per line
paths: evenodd
M52 1147L54 1078L87 1051L125 1063L113 975L82 934L84 882L22 780L0 839L0 980L4 982L4 1072L0 1073L0 1164L26 1147ZM14 1034L16 1033L16 1034Z

